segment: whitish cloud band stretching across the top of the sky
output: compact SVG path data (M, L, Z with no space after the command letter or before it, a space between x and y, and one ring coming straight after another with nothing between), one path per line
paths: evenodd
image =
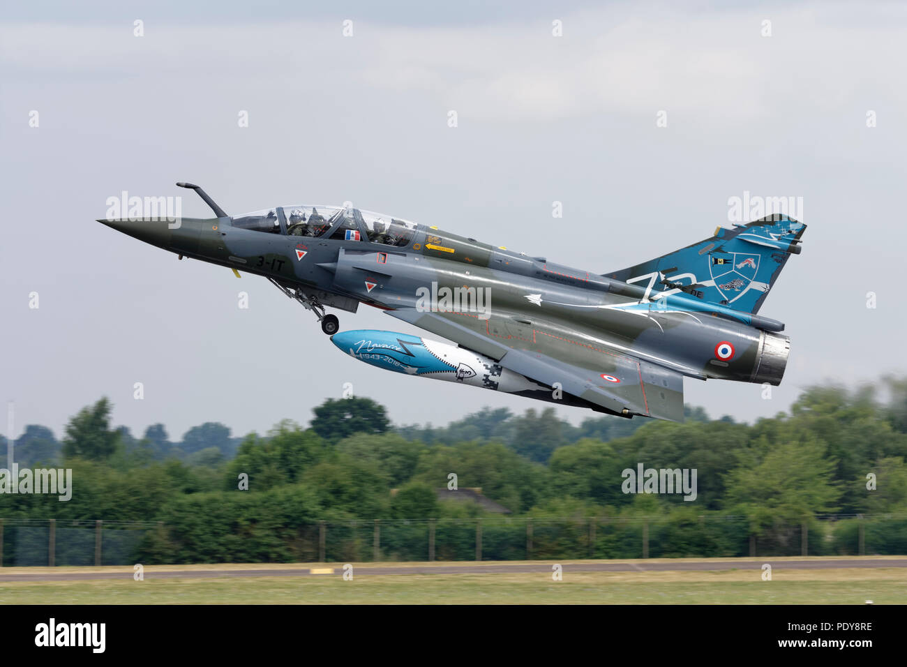
M761 36L771 21L772 36ZM853 20L859 15L860 20ZM872 17L877 20L871 20ZM255 74L322 93L349 87L420 93L461 118L542 122L659 110L694 123L756 121L779 105L816 110L880 96L904 102L897 37L907 7L777 6L699 14L666 5L644 18L622 5L551 23L398 26L3 25L0 62L21 72L139 74L175 79ZM859 46L855 46L859 44ZM867 44L871 46L867 48ZM648 122L648 121L647 121Z

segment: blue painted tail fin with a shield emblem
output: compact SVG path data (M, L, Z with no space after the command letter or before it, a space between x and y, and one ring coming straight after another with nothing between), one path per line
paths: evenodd
M803 222L775 213L718 228L715 236L629 269L603 275L647 287L647 295L684 291L708 303L756 313L787 258L800 254Z

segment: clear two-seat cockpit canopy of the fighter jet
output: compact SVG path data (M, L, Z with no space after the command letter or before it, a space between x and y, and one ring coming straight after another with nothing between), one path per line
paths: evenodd
M324 237L330 232L333 240L367 240L399 247L409 244L416 229L414 222L384 213L311 204L244 213L235 216L232 225L288 236Z

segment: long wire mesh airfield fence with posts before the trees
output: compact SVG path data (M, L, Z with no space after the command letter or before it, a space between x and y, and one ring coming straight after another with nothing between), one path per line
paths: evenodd
M0 518L0 566L907 554L907 515L819 515L758 529L736 515L493 515L320 521L279 531L242 525L209 548L193 537L160 522ZM256 541L267 548L247 548Z

